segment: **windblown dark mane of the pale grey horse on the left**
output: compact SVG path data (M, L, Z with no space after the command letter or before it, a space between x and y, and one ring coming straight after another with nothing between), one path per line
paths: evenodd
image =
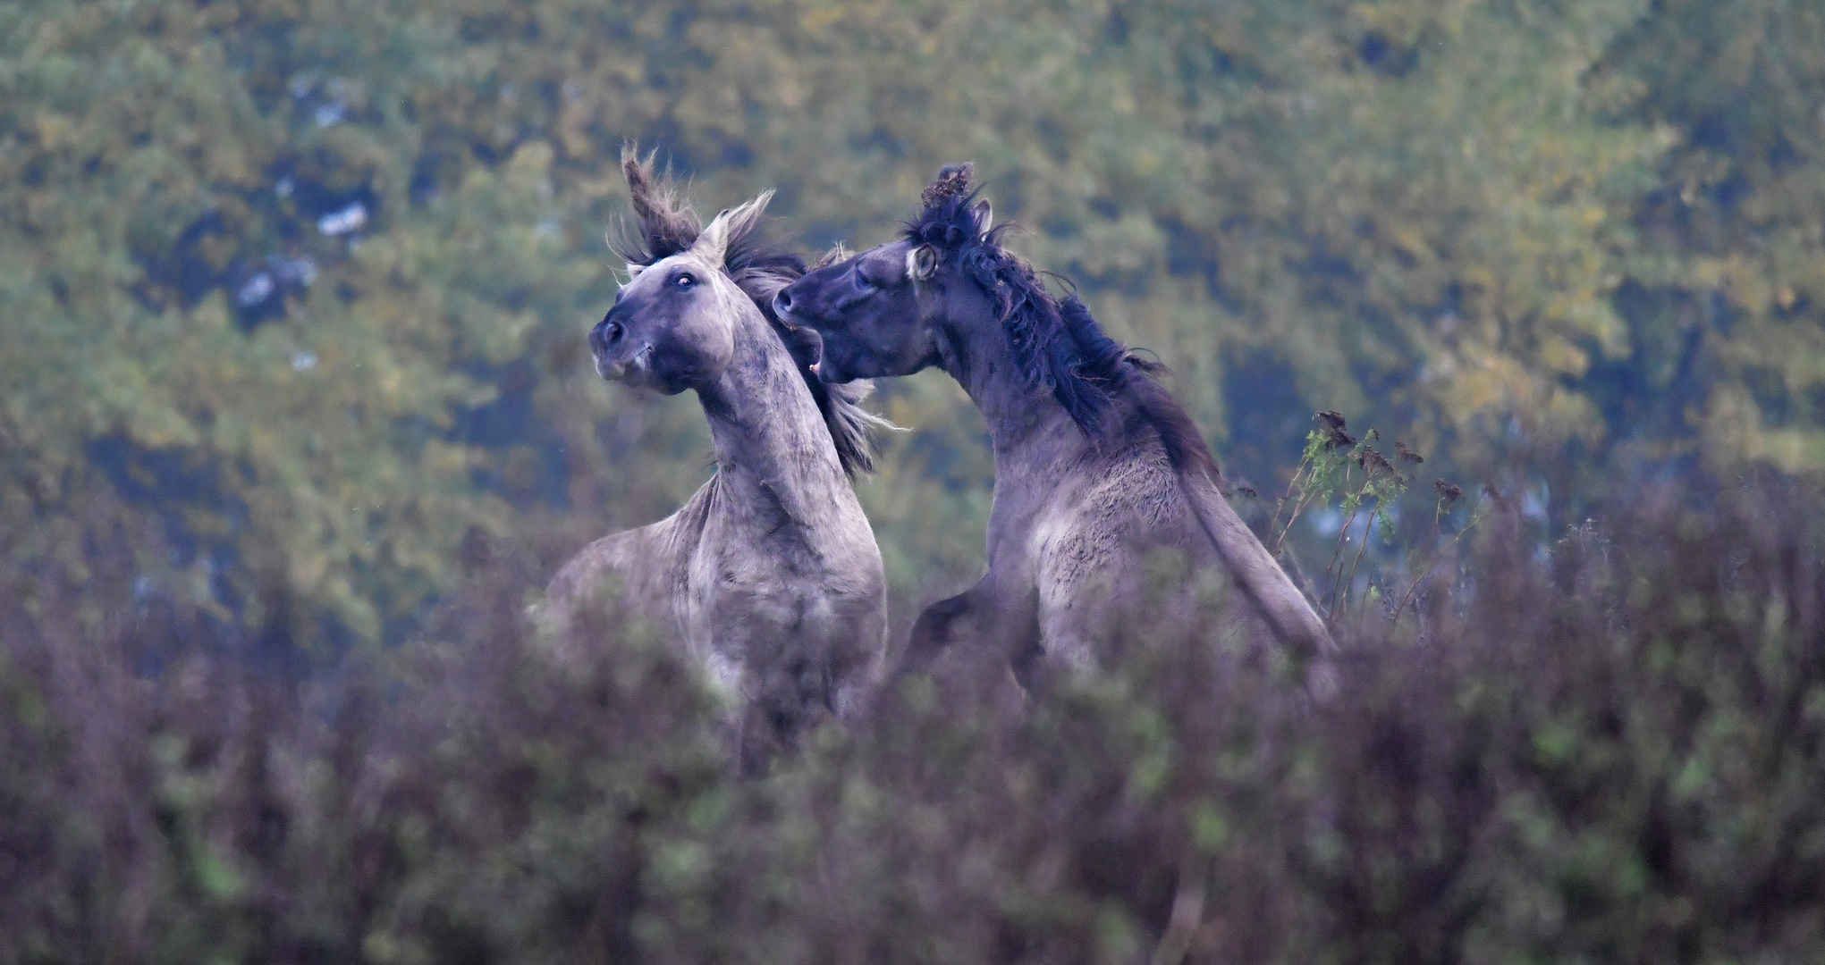
M690 199L670 175L657 170L657 155L659 151L653 151L642 159L631 144L620 150L620 171L628 177L635 217L633 224L620 226L617 237L610 239L610 246L635 266L690 250L703 232L703 223ZM723 270L754 301L787 352L792 354L792 361L798 363L799 376L810 387L810 398L818 401L818 412L823 414L823 423L830 429L830 441L836 443L836 458L843 465L843 472L850 476L872 472L871 436L876 427L887 425L887 420L861 407L872 383L825 385L810 370L823 348L818 334L787 325L774 312L774 296L805 274L805 259L768 244L757 224L735 228L723 255Z

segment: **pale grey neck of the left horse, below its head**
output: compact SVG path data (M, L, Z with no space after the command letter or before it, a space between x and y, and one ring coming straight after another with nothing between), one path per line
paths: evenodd
M759 312L735 325L734 361L697 398L710 421L725 509L785 513L808 531L832 502L854 502L818 403Z

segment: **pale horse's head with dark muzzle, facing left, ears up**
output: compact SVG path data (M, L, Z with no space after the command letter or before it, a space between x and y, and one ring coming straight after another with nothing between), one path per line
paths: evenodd
M631 281L589 330L602 378L675 396L723 374L735 356L737 319L756 310L728 274L728 244L754 228L770 197L715 215L683 252L628 266Z

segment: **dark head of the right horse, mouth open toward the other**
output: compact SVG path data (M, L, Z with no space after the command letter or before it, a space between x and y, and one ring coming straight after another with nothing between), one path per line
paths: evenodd
M779 317L823 336L825 381L909 376L940 359L956 299L982 301L964 265L989 235L989 202L967 190L969 166L945 168L902 239L807 272L774 296Z

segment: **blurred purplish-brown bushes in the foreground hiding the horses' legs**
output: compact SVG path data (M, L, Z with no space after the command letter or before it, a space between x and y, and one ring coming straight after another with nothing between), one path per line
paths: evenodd
M1166 626L752 783L684 668L613 622L555 666L513 580L305 682L13 615L0 961L1818 961L1821 507L1493 520L1329 697Z

